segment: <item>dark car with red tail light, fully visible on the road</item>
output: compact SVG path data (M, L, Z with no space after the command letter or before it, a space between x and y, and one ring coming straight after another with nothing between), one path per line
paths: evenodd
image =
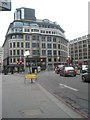
M74 67L63 67L60 70L60 76L76 76Z

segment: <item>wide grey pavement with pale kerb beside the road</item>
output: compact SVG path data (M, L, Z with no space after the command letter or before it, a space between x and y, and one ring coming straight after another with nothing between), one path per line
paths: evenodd
M83 118L23 74L2 75L2 118Z

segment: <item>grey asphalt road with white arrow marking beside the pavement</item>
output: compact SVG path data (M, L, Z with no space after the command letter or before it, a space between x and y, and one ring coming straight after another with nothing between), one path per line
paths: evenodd
M81 75L76 77L63 77L54 71L38 74L38 81L52 94L63 98L66 103L88 116L88 86L90 83L82 82Z

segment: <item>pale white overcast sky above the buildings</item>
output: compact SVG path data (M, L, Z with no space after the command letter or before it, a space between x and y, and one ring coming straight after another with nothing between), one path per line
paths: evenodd
M11 0L11 11L0 11L0 46L7 29L14 20L16 8L35 9L36 19L57 22L65 31L66 39L72 40L88 34L89 0Z

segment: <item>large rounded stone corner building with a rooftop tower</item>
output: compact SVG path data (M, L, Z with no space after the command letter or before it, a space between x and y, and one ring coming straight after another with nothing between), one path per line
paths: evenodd
M21 60L24 68L30 64L54 69L57 64L65 64L68 56L68 40L60 25L36 19L35 10L29 8L16 9L3 48L4 67L17 66ZM29 51L28 57L24 56L25 51Z

